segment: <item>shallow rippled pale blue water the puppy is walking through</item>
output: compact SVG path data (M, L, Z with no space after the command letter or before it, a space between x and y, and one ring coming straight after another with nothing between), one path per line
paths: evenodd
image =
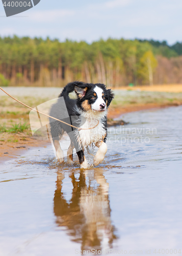
M182 253L182 107L122 118L97 168L51 146L1 164L1 256Z

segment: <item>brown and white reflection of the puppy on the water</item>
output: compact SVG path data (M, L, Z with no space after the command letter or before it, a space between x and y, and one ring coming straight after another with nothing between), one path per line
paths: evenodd
M67 228L71 241L82 244L81 250L112 248L116 239L115 228L111 223L109 184L102 169L94 169L94 178L87 177L87 172L83 170L80 171L78 180L75 179L74 173L69 177L73 189L71 200L67 202L62 192L64 175L58 173L57 176L54 197L57 225Z

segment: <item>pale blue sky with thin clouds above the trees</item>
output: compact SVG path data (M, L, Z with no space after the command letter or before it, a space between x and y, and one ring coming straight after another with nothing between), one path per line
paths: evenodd
M181 13L181 0L41 0L18 17L5 17L0 3L0 35L87 42L152 38L173 44L182 41Z

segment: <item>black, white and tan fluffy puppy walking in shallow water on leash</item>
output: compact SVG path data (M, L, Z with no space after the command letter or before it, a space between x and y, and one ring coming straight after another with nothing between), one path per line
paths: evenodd
M69 98L69 93L73 91L76 93L76 99ZM87 168L88 162L84 156L84 149L89 145L98 147L94 165L103 161L107 152L107 112L113 98L111 89L107 90L101 83L75 81L64 87L58 102L51 106L49 115L85 130L75 129L49 118L50 132L60 163L64 162L64 155L59 140L64 132L68 134L71 141L67 151L69 164L73 163L73 148L75 148L81 168ZM88 129L97 123L95 128Z

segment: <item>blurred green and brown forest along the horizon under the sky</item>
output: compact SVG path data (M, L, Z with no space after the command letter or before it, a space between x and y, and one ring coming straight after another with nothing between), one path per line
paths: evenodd
M62 87L73 80L128 84L182 83L182 43L100 39L86 41L48 37L0 37L1 86Z

